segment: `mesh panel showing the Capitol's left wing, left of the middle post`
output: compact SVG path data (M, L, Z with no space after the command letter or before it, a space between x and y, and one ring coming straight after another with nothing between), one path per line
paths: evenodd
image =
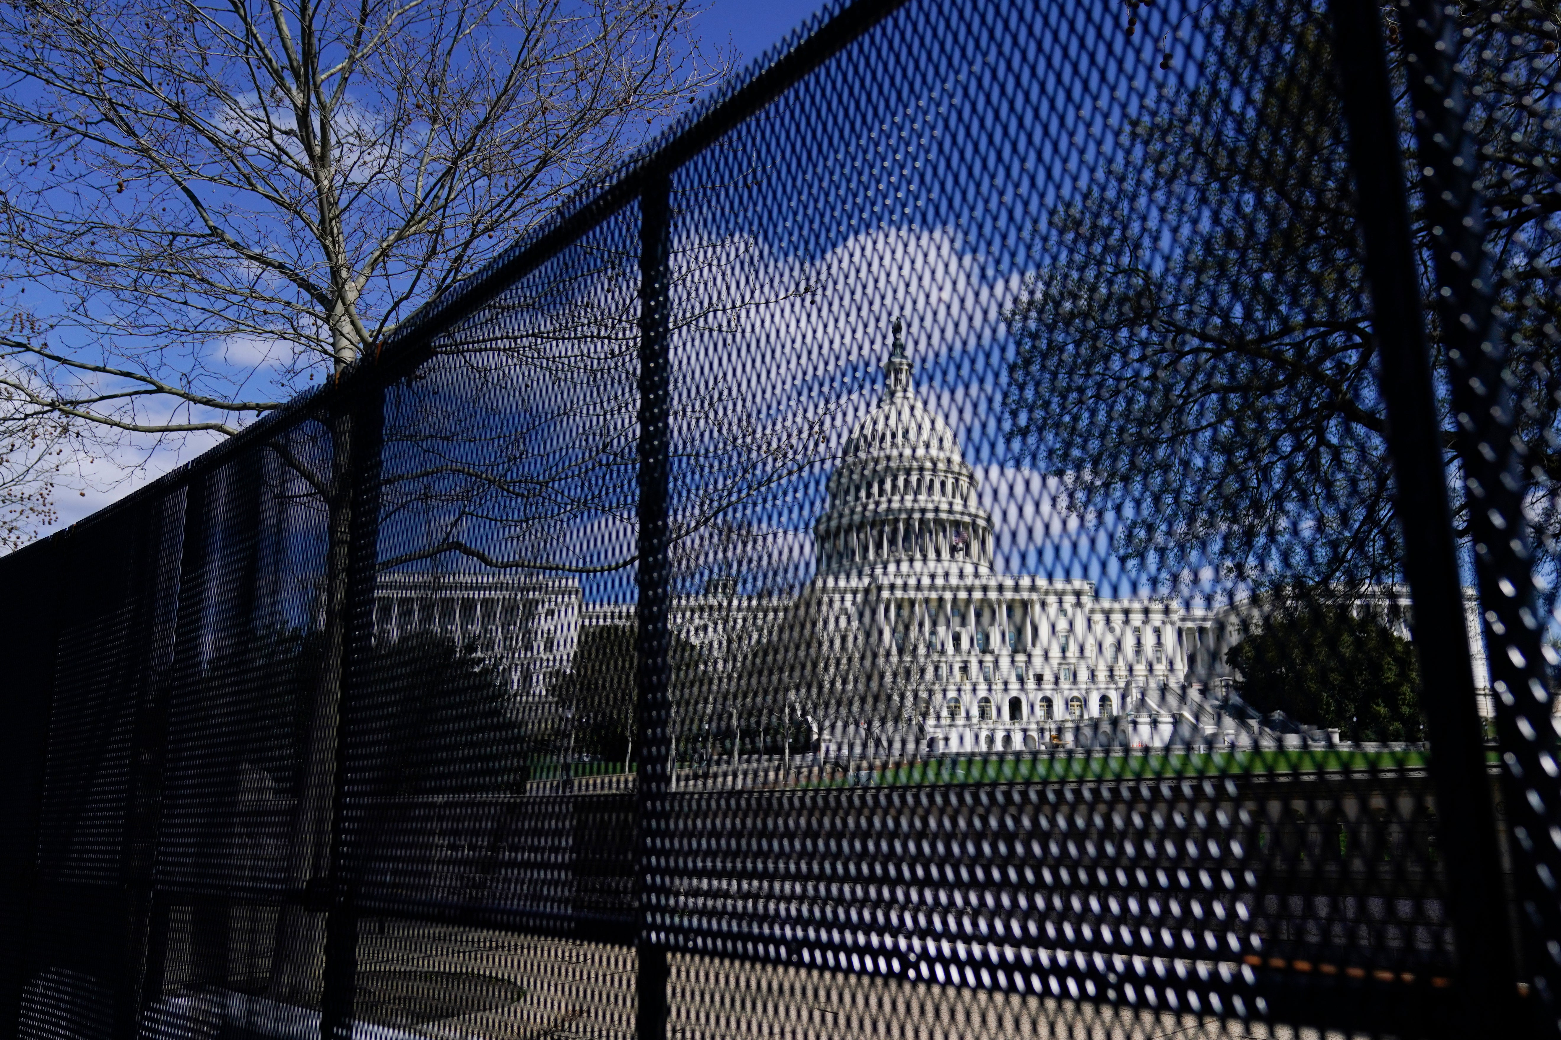
M638 218L386 391L345 823L365 906L632 931Z

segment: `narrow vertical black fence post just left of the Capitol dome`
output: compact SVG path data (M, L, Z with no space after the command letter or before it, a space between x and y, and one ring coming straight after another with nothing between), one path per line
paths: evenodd
M657 942L651 912L651 853L665 811L671 770L671 697L668 607L670 451L670 301L668 226L671 181L662 170L646 175L640 192L640 501L638 603L635 608L635 1035L667 1037L667 948Z

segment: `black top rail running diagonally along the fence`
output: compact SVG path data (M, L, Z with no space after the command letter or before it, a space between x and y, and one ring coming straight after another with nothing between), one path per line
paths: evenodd
M61 543L89 525L139 508L147 499L167 494L197 474L220 466L234 452L242 452L254 441L265 440L298 423L309 412L328 405L331 399L362 390L365 380L387 380L415 368L425 360L439 334L478 312L518 278L540 267L570 242L634 201L640 195L648 172L667 173L677 168L830 56L849 47L904 3L905 0L834 0L834 3L826 5L745 70L727 78L662 134L631 153L610 175L582 187L510 248L457 282L456 288L414 310L390 332L384 343L365 351L337 377L326 380L317 390L298 394L273 412L267 412L237 435L206 449L91 516L6 555L41 550L41 546Z

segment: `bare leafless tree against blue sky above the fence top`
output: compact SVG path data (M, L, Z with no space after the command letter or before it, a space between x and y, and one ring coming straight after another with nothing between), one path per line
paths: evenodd
M0 12L0 380L100 430L231 433L351 363L715 69L682 0ZM16 374L25 370L31 377Z

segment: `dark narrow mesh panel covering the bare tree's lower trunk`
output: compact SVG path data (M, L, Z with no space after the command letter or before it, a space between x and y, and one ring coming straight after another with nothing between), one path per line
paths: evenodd
M278 440L303 449L306 437ZM298 716L318 658L306 597L323 535L298 485L259 449L186 493L158 858L172 890L279 898L292 884Z

